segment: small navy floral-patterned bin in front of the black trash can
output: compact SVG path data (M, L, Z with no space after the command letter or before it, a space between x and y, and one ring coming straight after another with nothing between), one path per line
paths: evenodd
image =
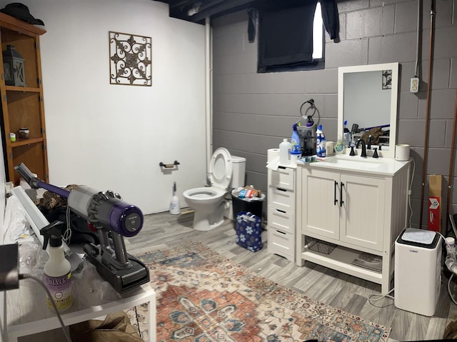
M248 251L256 252L262 249L261 218L249 211L236 214L236 244Z

